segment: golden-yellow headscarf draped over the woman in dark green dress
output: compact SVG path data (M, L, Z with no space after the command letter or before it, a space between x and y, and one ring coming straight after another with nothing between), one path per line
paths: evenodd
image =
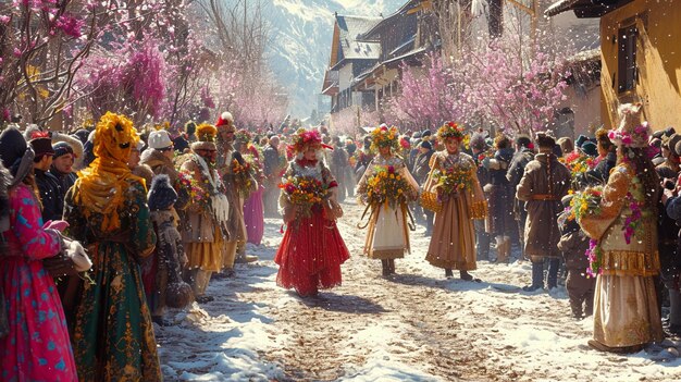
M84 208L86 219L91 213L103 215L103 232L121 227L117 211L125 201L126 181L139 181L146 189L145 180L133 175L127 167L131 150L138 141L133 122L124 115L107 112L97 123L94 141L97 158L78 172L74 199Z

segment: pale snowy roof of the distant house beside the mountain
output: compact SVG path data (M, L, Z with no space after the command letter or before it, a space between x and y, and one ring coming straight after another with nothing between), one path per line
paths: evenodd
M361 35L373 28L382 20L383 17L336 15L343 58L346 60L377 60L381 57L381 44L363 41Z

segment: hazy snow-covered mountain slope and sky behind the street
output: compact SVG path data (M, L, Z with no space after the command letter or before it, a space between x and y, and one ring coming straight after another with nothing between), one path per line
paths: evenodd
M307 118L318 108L329 65L334 12L386 16L407 0L273 0L269 8L272 70L290 97L290 112ZM325 111L324 111L325 112Z

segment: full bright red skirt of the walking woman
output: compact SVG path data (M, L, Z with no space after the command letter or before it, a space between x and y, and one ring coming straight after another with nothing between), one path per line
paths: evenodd
M318 288L340 285L340 264L349 258L336 223L314 209L310 218L287 224L274 258L280 266L276 284L301 296L314 295Z

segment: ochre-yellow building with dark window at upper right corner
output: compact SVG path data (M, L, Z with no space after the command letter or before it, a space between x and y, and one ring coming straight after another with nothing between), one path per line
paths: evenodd
M572 11L600 19L600 115L617 124L621 103L641 102L654 130L681 126L681 3L676 0L562 0L549 16Z

